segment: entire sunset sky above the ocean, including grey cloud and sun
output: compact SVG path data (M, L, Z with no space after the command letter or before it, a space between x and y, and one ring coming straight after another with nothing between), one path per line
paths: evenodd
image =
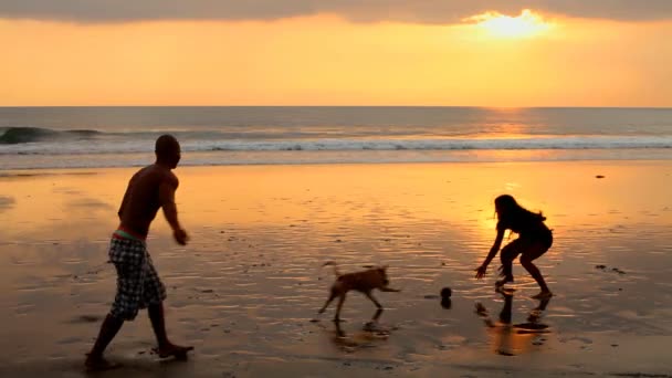
M672 106L670 0L0 0L0 106Z

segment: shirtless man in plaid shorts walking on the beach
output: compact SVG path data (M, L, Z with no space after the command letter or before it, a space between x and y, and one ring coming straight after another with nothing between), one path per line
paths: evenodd
M185 356L190 346L178 346L168 339L164 319L166 287L154 269L145 240L159 208L164 209L172 235L180 245L188 241L187 232L177 220L175 191L179 185L172 169L180 160L180 145L170 135L156 140L156 162L137 171L124 195L119 208L119 228L109 243L109 261L117 271L117 293L101 333L87 355L86 367L102 370L114 367L104 357L107 345L125 321L133 321L140 308L147 308L158 342L159 357Z

